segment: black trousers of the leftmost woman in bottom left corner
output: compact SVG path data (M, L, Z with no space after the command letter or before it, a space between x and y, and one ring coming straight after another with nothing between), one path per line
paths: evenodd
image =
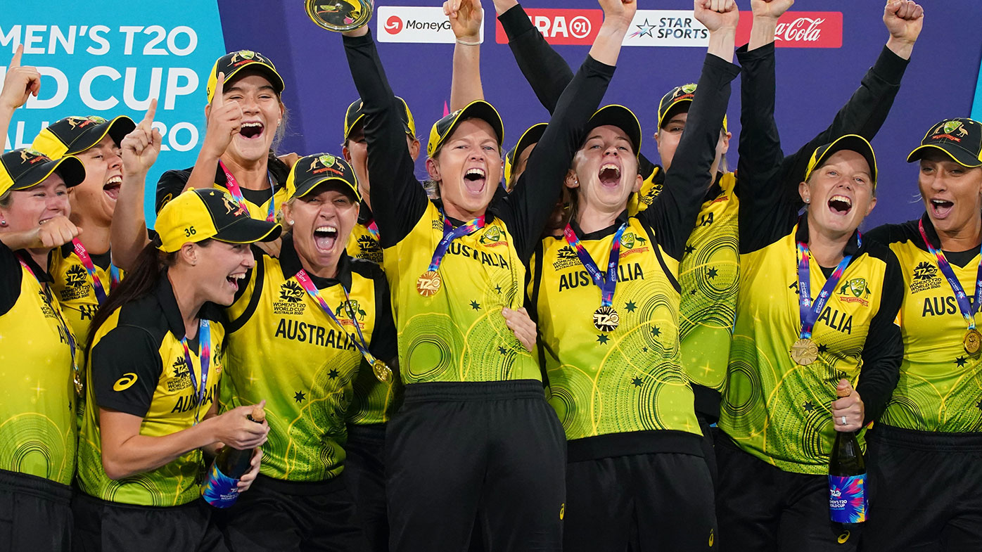
M71 550L72 488L0 469L0 550Z

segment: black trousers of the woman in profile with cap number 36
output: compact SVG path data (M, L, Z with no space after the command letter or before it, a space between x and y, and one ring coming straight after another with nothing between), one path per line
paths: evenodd
M81 491L72 499L77 552L225 552L222 533L203 500L181 506L108 502Z

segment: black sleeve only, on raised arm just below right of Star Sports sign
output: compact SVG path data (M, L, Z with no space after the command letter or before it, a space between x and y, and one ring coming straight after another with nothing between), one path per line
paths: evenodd
M682 258L703 196L713 182L709 171L716 158L731 83L739 71L739 67L718 56L706 55L682 141L672 167L665 173L665 188L658 201L637 215L654 228L658 243L674 258Z

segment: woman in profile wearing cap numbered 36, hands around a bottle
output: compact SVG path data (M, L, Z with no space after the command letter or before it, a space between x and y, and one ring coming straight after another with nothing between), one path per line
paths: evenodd
M233 303L255 265L249 246L277 239L280 226L207 189L176 197L156 228L90 329L74 502L75 539L86 550L224 549L197 500L202 452L257 448L269 430L246 417L251 405L218 414L219 307ZM257 450L240 491L260 458Z

